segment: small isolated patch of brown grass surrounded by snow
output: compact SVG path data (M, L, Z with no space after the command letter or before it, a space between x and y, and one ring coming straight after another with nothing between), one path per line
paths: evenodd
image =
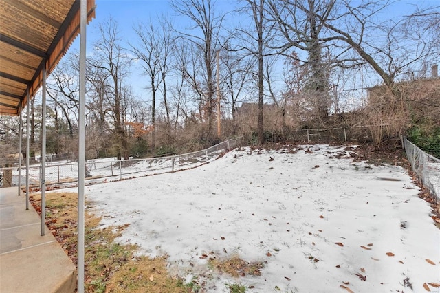
M254 262L250 263L245 261L238 256L234 256L230 259L217 259L215 257L208 261L209 265L213 268L217 268L219 272L224 274L229 274L230 276L261 276L261 269L263 268L263 263Z

